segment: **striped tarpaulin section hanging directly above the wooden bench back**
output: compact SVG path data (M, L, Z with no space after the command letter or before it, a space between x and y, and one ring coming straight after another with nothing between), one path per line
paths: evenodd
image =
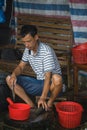
M48 16L69 16L68 0L14 0L15 12Z

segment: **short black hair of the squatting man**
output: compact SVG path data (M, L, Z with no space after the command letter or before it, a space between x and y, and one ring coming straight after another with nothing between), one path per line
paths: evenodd
M23 25L20 31L20 35L25 37L27 34L30 34L34 37L37 34L37 28L35 25Z

